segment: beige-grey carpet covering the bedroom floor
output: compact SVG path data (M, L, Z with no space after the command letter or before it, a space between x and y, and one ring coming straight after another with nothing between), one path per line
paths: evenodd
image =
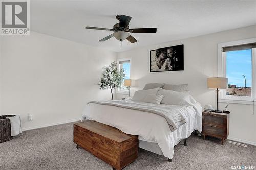
M240 147L225 141L190 136L187 147L175 147L173 162L139 149L128 169L231 169L256 166L256 147ZM112 169L73 143L73 124L25 131L23 137L0 143L0 169Z

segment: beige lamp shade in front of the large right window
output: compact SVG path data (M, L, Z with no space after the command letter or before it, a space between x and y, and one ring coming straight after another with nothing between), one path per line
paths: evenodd
M210 77L208 78L208 88L227 88L227 78L226 77Z

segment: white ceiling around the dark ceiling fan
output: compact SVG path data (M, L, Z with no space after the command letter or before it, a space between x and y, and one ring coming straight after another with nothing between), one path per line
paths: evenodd
M141 46L194 37L256 24L256 1L65 1L31 0L32 31L121 52ZM98 40L111 31L118 14L132 17L130 28L157 27L157 33L133 33L138 42L120 42L114 37Z

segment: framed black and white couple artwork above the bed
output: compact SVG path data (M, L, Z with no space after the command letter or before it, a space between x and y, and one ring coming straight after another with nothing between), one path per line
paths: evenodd
M150 72L183 71L184 45L150 51Z

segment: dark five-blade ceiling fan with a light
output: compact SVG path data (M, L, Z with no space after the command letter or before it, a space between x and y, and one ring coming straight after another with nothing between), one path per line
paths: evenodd
M108 28L99 28L99 27L86 27L86 29L94 29L94 30L106 30L106 31L114 31L115 33L106 36L105 38L102 38L101 41L108 40L112 37L115 37L117 40L122 41L127 39L129 42L134 43L137 42L137 40L130 35L130 33L156 33L157 28L134 28L129 29L129 22L131 21L131 16L126 15L117 15L116 19L119 20L119 23L116 23L113 26L113 29Z

